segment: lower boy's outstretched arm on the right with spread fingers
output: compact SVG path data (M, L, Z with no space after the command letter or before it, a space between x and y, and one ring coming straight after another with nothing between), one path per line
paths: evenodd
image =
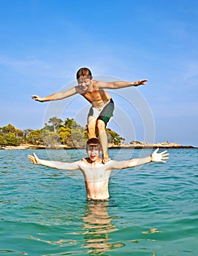
M112 161L110 164L113 169L125 169L128 167L135 167L137 165L145 165L148 162L166 162L166 159L169 159L169 153L167 151L162 151L161 153L157 153L159 148L151 154L149 157L135 158L129 159L128 161Z

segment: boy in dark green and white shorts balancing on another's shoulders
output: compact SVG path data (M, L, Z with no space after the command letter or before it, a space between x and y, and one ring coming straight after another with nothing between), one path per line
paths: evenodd
M88 138L96 138L97 129L102 145L102 162L106 163L110 161L110 159L107 152L107 133L105 128L107 122L110 121L110 118L113 116L114 102L110 94L104 91L104 89L121 89L129 86L140 86L145 85L147 81L147 79L138 80L136 82L103 82L93 80L91 71L83 67L77 71L78 86L47 97L39 97L37 95L32 95L31 97L39 102L64 99L74 94L81 94L85 97L92 105L88 113Z

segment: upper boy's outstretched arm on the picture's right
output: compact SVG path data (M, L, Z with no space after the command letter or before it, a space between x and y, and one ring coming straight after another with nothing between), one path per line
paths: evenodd
M124 81L102 82L102 81L97 81L96 86L99 89L121 89L121 88L125 88L125 87L130 87L130 86L142 86L142 85L145 85L146 82L148 82L147 79L138 80L136 82L124 82Z

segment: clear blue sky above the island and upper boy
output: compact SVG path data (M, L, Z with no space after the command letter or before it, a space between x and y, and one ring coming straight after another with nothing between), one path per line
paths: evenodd
M149 80L110 91L110 129L127 141L198 146L197 1L0 1L0 24L0 127L42 128L51 105L31 94L69 89L77 69L89 67L97 79ZM137 99L134 110L128 98ZM59 117L85 125L85 99L58 104Z

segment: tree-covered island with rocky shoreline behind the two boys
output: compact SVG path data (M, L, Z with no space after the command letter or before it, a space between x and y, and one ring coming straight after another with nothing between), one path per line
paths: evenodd
M0 127L0 149L77 149L85 148L88 140L86 127L77 124L74 118L52 117L42 129L18 129L12 124ZM194 146L182 146L179 143L147 143L132 141L125 143L117 132L106 129L108 137L108 148L196 148Z

